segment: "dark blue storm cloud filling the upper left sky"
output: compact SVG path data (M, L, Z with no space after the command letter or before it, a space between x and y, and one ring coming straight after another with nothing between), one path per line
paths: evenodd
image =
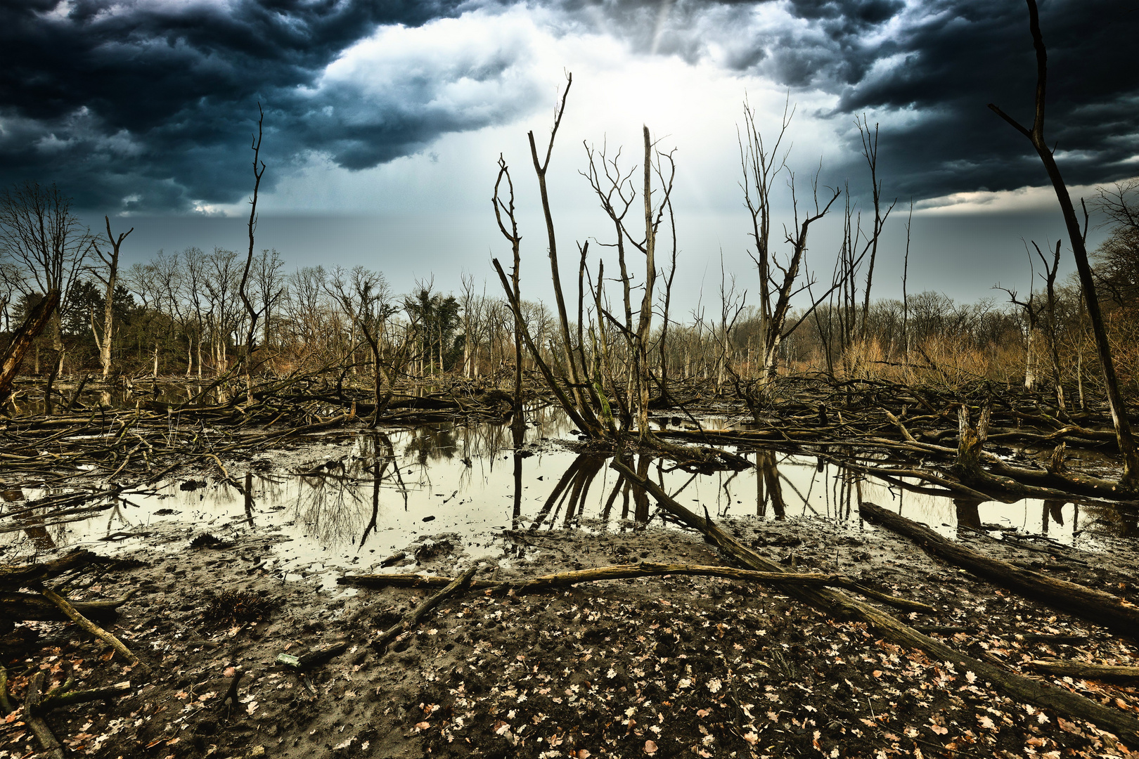
M7 1L0 181L58 181L89 207L233 201L248 191L259 100L277 168L312 150L353 168L415 152L493 118L417 107L416 96L429 99L449 75L493 77L500 65L460 57L428 67L433 81L367 117L351 88L305 88L377 27L458 10L451 0Z

